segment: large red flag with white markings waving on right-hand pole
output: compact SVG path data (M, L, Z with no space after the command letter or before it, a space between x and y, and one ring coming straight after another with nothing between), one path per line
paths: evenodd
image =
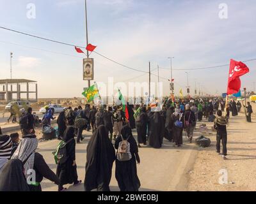
M228 73L227 94L236 94L241 88L241 80L239 77L249 72L249 68L243 62L237 62L230 59L230 67Z

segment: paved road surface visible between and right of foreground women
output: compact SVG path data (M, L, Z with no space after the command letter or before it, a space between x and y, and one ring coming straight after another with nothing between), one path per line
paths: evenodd
M198 135L196 133L195 135ZM79 180L84 181L86 146L90 140L91 132L84 131L86 136L82 143L76 145L76 163ZM136 133L134 132L136 138ZM58 145L58 140L40 142L38 150L50 168L56 172L56 164L52 152ZM144 146L139 149L141 163L137 165L138 177L141 182L140 191L186 191L188 172L193 168L198 147L188 143L184 135L184 145L180 148L173 147L173 143L164 139L161 149ZM41 183L43 191L57 191L58 187L51 181L44 179ZM79 186L66 185L67 191L83 191L83 184ZM112 170L110 183L111 191L119 191L115 179L115 163Z

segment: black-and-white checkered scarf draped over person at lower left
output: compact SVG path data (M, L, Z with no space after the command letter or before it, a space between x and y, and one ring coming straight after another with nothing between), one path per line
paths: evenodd
M25 161L28 157L28 161L24 164L25 175L28 177L28 170L33 170L35 162L35 150L38 146L38 141L36 138L23 138L17 150L14 152L12 159L20 159L20 161ZM32 153L32 154L31 154ZM29 156L30 155L30 156Z

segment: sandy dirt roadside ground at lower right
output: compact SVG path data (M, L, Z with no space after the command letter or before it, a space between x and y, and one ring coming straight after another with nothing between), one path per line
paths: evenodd
M256 104L253 106L252 123L245 121L244 113L230 117L227 127L227 160L216 153L216 133L211 147L198 149L198 156L190 175L188 191L255 191L256 189ZM212 123L207 122L211 127ZM205 135L206 136L206 135ZM220 184L227 170L227 183ZM221 178L220 178L221 177Z

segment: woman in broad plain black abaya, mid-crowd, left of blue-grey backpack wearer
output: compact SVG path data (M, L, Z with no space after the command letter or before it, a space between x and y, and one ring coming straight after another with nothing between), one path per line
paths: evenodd
M164 122L163 117L159 112L154 112L154 115L150 117L149 120L149 136L148 144L153 148L160 148L163 143L163 131L164 131Z

